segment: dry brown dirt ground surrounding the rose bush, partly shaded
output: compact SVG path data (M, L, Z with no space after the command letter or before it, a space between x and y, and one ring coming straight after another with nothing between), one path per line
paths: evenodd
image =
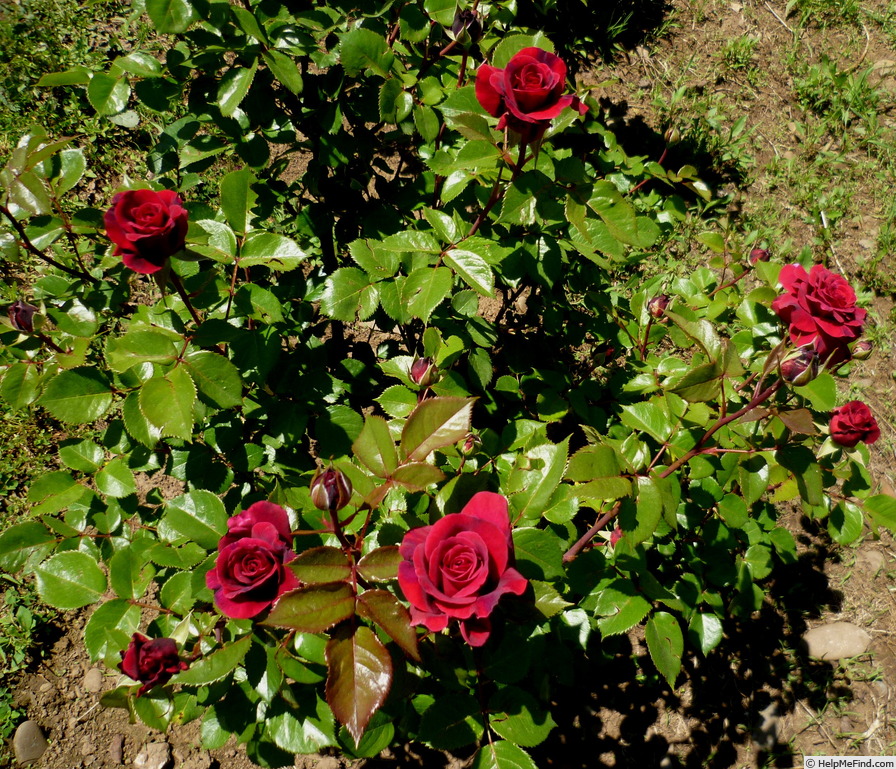
M889 3L879 5L889 12ZM861 273L891 201L871 190L853 195L851 213L840 218L835 236L821 238L819 227L828 226L825 217L819 224L818 212L807 197L788 188L780 174L773 176L768 169L798 161L809 151L801 145L799 126L795 127L802 119L800 107L792 73L783 64L796 38L805 51L800 55L814 60L826 52L834 58L852 56L856 67L880 64L875 68L877 83L891 93L896 91L896 81L888 73L896 66L896 52L881 28L844 31L836 25L822 28L810 23L797 32L797 22L785 15L783 0L675 0L667 19L669 28L657 40L620 54L611 65L580 72L579 81L604 84L596 86L597 93L618 128L629 126L633 135L646 133L654 138L665 130L660 115L668 114L664 109L677 88L686 86L710 100L718 95L733 99L749 115L754 162L733 181L719 176L721 191L737 192L729 212L732 219L748 221L771 206L777 212L776 225L798 244L796 248L808 245L832 268L850 275ZM736 72L719 76L721 51L729 41L743 36L755 38L753 65L761 77ZM615 80L615 85L608 80ZM639 88L634 96L633 83ZM892 122L883 112L882 120ZM837 138L830 141L836 149ZM846 152L838 162L848 166L865 162L863 157ZM886 261L884 267L892 271ZM858 382L857 397L884 414L884 437L874 447L873 476L880 489L892 493L896 486L894 356L886 343L892 302L885 297L874 301L885 343L879 344L875 357L860 364L852 379ZM761 612L748 623L731 626L723 647L709 658L688 661L674 691L652 677L637 632L619 639L613 649L615 664L595 668L594 679L574 690L558 692L559 728L546 745L533 751L538 765L723 769L802 766L804 755L896 756L893 540L886 534L877 539L869 531L858 547L841 548L798 511L789 513L787 522L799 542L800 560L770 586ZM139 767L138 754L151 743L168 746L176 769L252 765L242 747L233 742L211 753L203 751L195 722L159 734L129 724L124 711L102 709L98 690L112 688L118 674L96 668L87 659L80 641L87 616L66 616L55 640L48 642L50 653L17 685L18 702L51 742L36 766ZM802 636L810 628L838 620L852 622L870 634L867 651L839 663L811 659L802 647ZM309 756L299 757L296 766L458 769L468 763L466 756L411 746L387 751L366 764Z

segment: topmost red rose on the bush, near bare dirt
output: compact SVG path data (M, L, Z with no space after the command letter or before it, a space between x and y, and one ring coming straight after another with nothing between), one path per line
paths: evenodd
M563 95L566 64L541 48L523 48L504 69L483 64L476 72L476 98L492 117L501 118L523 141L541 139L550 121L567 107L584 115L588 107L577 96Z

